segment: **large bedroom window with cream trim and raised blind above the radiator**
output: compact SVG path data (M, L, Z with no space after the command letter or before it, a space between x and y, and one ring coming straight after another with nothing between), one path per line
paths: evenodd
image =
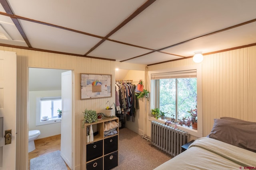
M159 108L168 112L169 119L190 117L191 109L197 108L198 129L179 127L189 134L202 137L202 66L172 68L165 72L150 72L151 109ZM159 120L160 121L160 120Z

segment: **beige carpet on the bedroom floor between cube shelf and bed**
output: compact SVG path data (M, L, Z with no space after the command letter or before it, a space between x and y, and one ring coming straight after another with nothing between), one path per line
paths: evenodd
M141 135L123 128L119 130L118 166L113 170L152 170L172 156L156 147Z

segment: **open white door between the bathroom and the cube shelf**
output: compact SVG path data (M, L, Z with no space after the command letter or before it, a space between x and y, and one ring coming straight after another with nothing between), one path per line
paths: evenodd
M61 74L62 120L60 155L72 169L72 112L73 112L73 78L72 71Z

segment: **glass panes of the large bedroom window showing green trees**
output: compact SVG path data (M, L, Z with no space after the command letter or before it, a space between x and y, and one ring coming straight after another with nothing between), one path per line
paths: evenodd
M167 117L182 119L190 117L190 109L197 105L196 78L159 79L159 108Z

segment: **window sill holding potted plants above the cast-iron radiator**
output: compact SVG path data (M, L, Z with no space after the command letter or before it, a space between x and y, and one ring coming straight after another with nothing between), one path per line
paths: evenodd
M154 117L150 117L149 120L150 121L157 121L157 122L163 123L163 124L167 121L166 119L161 119L161 118L156 119ZM169 126L175 127L174 124L170 124L170 123L169 123ZM187 126L185 127L185 126L182 126L182 125L176 125L176 126L177 126L178 129L180 129L182 131L185 131L185 132L188 132L189 135L193 135L193 136L199 137L199 138L202 137L202 135L200 135L200 133L198 133L198 130L192 129L192 127L187 127Z

